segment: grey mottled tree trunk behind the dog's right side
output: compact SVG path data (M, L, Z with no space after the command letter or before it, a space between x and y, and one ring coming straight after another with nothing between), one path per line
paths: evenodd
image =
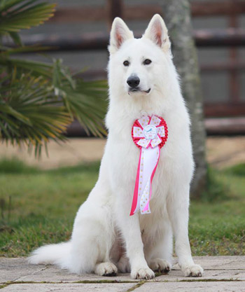
M162 14L172 41L174 64L181 76L183 97L186 100L192 122L191 132L195 159L195 176L191 194L200 197L206 184L207 163L205 158L205 129L202 108L202 90L193 41L188 0L163 0Z

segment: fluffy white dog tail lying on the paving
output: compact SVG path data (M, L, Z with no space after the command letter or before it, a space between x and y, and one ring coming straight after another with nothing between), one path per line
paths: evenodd
M48 244L41 246L29 257L29 263L33 264L55 264L66 268L66 262L71 251L71 242L62 242L60 244Z

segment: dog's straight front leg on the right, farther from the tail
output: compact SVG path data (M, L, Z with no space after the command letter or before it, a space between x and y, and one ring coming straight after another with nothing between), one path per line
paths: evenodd
M190 251L188 237L189 187L172 193L167 200L169 214L175 238L175 251L179 265L186 277L202 277L203 269L195 265Z

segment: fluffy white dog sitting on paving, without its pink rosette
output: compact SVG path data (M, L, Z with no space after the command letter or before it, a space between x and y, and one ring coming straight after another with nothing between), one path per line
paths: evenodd
M155 15L141 39L116 18L109 46L109 136L99 179L73 225L69 242L42 246L31 263L53 263L71 272L152 279L169 272L172 235L185 276L200 277L188 239L188 206L193 176L190 119L172 62L167 27ZM160 116L169 129L152 182L151 214L130 216L139 148L132 125L142 116Z

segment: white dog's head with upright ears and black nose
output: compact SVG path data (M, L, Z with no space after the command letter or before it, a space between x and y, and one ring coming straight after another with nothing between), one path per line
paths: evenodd
M160 15L154 15L141 39L120 18L111 28L109 46L110 88L120 95L148 96L160 91L172 63L167 27ZM170 62L169 62L170 61Z

